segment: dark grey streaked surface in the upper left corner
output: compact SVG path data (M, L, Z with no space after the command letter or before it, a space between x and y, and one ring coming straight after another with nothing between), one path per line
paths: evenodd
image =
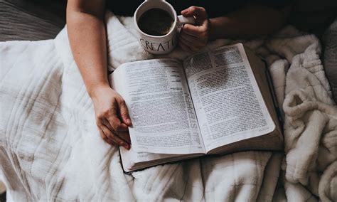
M65 26L66 1L0 0L0 41L54 38Z

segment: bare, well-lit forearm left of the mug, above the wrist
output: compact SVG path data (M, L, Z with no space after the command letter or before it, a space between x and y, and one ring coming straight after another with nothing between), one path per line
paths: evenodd
M103 16L67 9L70 47L90 97L97 87L109 85Z

